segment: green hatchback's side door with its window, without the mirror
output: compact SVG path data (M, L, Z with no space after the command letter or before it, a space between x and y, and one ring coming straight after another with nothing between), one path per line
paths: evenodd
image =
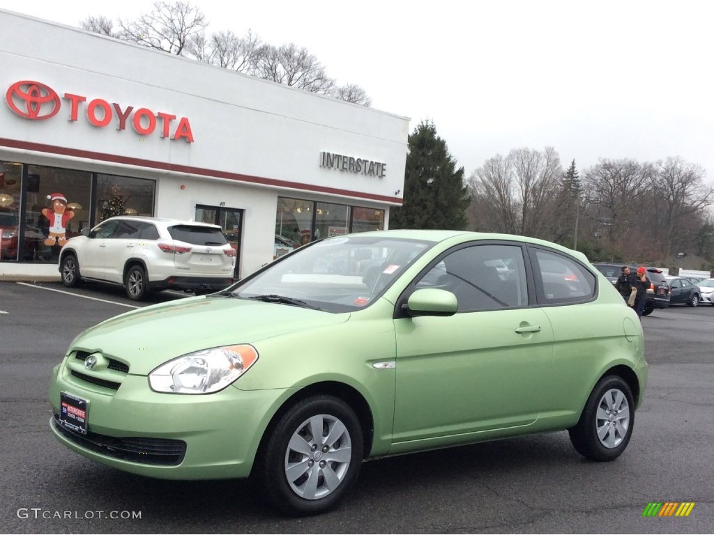
M499 275L489 261L504 260ZM492 263L493 264L493 263ZM469 245L435 260L412 283L456 295L451 317L397 317L396 400L391 452L444 444L538 419L553 362L553 330L529 307L520 245ZM406 299L406 297L403 297ZM398 304L399 306L399 304ZM399 308L398 308L399 310ZM418 442L414 442L418 441ZM417 447L418 448L418 447Z

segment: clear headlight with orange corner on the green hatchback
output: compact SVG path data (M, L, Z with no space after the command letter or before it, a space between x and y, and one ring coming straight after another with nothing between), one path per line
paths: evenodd
M226 345L169 360L149 374L156 392L211 394L241 377L258 360L251 345Z

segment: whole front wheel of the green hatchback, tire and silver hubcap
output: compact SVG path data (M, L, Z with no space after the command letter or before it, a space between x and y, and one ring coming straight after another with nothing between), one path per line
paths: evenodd
M362 463L362 428L353 410L336 397L308 397L268 432L256 482L273 506L294 516L337 506Z

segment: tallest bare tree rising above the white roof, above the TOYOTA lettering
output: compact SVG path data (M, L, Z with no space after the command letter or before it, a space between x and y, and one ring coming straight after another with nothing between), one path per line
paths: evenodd
M119 20L120 39L183 56L191 37L208 26L206 16L188 2L154 2L154 9L135 21Z

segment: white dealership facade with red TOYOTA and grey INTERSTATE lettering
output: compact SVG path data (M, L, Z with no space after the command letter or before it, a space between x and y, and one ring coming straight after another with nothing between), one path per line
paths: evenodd
M9 11L0 27L0 161L156 180L162 217L244 210L241 276L273 258L278 197L385 226L401 205L408 118ZM41 87L34 110L21 81Z

